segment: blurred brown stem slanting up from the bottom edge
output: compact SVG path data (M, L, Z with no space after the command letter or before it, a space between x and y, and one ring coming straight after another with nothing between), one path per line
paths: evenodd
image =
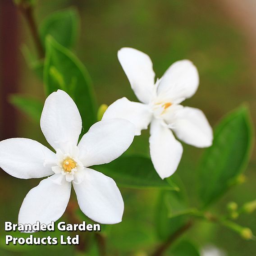
M152 256L162 256L163 253L169 248L169 246L178 239L183 233L190 229L192 226L192 221L188 221L185 225L183 225L180 229L178 229L174 234L172 234L164 243L160 244L159 247L156 248L155 252Z

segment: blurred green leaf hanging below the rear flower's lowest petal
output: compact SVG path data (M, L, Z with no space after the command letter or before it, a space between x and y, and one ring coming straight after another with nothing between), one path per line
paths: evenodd
M161 191L155 212L156 233L160 240L166 240L187 223L188 216L178 212L187 209L187 196L177 174L172 176L180 191Z

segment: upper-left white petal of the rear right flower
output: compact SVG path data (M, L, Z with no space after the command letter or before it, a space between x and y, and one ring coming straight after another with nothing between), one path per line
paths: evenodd
M155 84L150 57L139 50L124 47L118 51L118 59L138 100L149 103Z

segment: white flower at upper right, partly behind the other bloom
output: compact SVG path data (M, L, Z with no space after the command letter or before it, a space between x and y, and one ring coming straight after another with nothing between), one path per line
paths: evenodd
M150 128L150 155L161 178L172 175L187 144L208 147L212 144L212 128L201 110L180 105L191 97L199 84L196 67L189 60L172 64L161 79L155 73L148 55L133 48L122 48L118 59L139 101L123 97L109 106L103 120L125 118L136 125L136 135ZM171 130L172 131L171 131Z

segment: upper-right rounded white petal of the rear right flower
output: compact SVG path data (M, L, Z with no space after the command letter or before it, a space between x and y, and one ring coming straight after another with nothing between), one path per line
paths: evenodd
M193 96L198 85L199 75L194 64L187 59L179 60L164 73L157 88L157 94L163 101L178 104L185 98Z

